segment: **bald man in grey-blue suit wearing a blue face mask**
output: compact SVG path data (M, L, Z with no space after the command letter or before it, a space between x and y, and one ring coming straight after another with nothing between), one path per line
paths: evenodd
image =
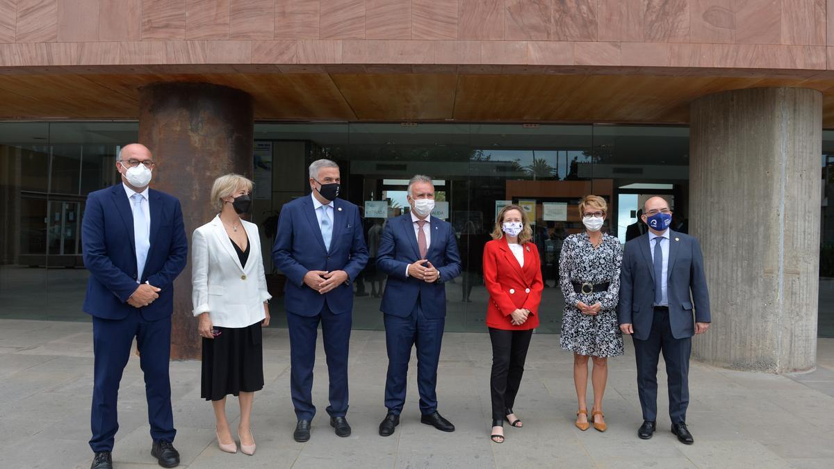
M691 445L695 440L686 428L691 338L710 327L710 296L701 245L690 235L669 229L671 214L661 197L643 205L641 219L649 232L625 243L618 315L620 330L634 339L643 410L637 435L648 440L656 428L657 361L662 351L671 430L678 440Z

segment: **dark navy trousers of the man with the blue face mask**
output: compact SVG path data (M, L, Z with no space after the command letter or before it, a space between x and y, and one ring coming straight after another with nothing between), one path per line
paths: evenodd
M637 391L643 420L657 420L657 361L663 352L669 386L669 417L672 423L686 423L689 406L689 356L692 338L676 339L669 324L669 310L655 308L651 332L646 340L634 339L637 361Z

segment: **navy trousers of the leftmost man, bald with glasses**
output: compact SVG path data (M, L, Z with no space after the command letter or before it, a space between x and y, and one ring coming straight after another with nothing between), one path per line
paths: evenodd
M93 353L95 355L93 406L90 426L93 451L113 451L118 431L116 406L118 385L128 364L133 337L139 349L139 366L145 377L148 400L148 423L153 441L173 441L171 381L168 361L171 356L171 318L144 320L136 310L123 320L106 320L93 316Z

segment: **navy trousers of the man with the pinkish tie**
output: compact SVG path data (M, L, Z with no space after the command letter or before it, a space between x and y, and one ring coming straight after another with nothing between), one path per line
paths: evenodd
M406 317L384 315L385 348L388 350L388 376L385 378L385 406L399 415L405 403L406 378L411 360L411 346L417 346L417 389L420 412L437 410L437 364L443 340L445 318L429 319L420 300Z

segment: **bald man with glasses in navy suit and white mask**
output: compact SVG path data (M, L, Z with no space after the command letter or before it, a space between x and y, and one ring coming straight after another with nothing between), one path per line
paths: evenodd
M151 454L159 465L179 464L173 448L168 360L173 280L185 267L188 239L174 197L148 189L153 156L129 144L116 163L122 182L88 195L82 223L84 265L90 272L83 309L93 316L95 377L90 447L93 469L112 467L122 371L136 337L145 376Z

